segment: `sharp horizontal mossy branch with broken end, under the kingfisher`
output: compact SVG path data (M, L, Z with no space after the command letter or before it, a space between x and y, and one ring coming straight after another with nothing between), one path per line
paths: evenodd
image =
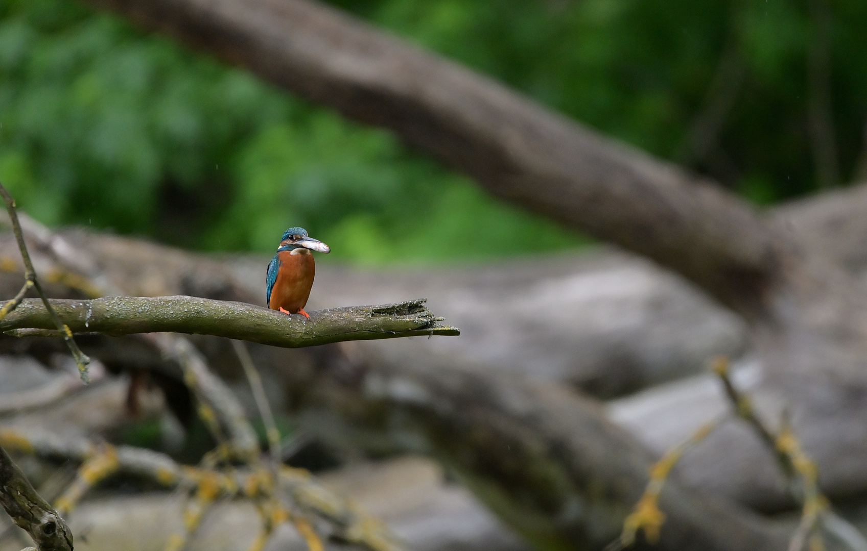
M440 325L441 318L427 309L425 299L316 310L310 312L310 320L244 302L193 296L120 296L50 303L73 333L212 334L286 348L342 340L460 334L456 327ZM34 299L23 300L15 311L0 320L0 331L14 336L55 336L54 327L42 301Z

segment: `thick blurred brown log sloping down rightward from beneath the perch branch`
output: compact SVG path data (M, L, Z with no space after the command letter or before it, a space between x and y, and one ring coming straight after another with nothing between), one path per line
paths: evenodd
M507 373L389 359L355 343L339 348L347 355L331 368L318 366L319 376L281 370L312 411L310 430L327 411L332 438L343 429L353 443L380 440L371 448L378 450L381 438L370 438L371 431L399 435L398 450L408 444L442 457L461 483L540 547L598 549L621 534L653 458L593 400ZM676 480L666 483L659 503L668 515L660 549L783 549L788 541L787 532L758 515Z

